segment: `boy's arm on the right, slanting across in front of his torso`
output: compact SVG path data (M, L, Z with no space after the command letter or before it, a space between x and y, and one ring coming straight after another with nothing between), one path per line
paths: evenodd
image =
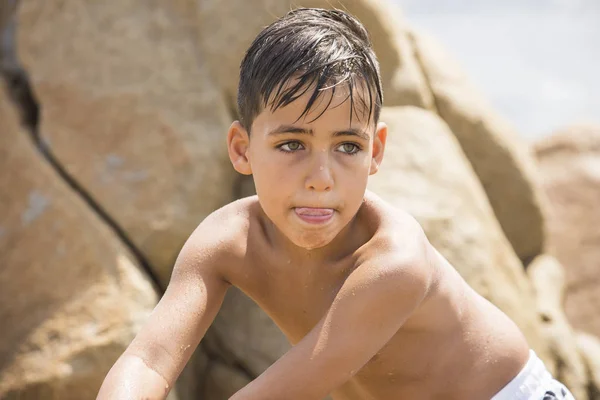
M322 399L358 372L400 329L431 284L426 258L363 265L320 322L230 400Z

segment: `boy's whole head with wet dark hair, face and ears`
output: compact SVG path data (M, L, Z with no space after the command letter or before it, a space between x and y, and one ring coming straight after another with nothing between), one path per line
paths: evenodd
M296 245L328 244L358 211L383 157L382 102L368 33L343 11L290 11L251 44L230 158Z

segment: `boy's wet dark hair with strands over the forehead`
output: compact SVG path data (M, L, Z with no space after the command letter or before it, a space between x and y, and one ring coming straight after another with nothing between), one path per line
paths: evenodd
M352 15L341 10L298 8L267 26L248 48L240 66L238 111L250 132L266 107L284 107L311 88L302 118L325 90L331 89L327 110L338 85L348 88L350 122L356 106L367 109L375 123L383 104L379 62L369 34ZM362 85L368 99L355 89ZM358 99L358 102L356 101ZM360 115L360 114L359 114Z

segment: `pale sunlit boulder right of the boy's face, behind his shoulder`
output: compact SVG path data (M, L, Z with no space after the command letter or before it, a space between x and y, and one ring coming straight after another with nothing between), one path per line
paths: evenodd
M551 361L533 288L452 131L415 107L384 107L381 120L389 126L386 156L369 189L412 214L465 280Z

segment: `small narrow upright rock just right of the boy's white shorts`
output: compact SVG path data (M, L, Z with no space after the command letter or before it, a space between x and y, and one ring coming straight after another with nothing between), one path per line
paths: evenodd
M563 311L563 267L554 257L540 255L527 268L527 275L536 292L544 336L556 363L554 376L569 388L576 399L587 399L588 373L579 354L575 332Z

